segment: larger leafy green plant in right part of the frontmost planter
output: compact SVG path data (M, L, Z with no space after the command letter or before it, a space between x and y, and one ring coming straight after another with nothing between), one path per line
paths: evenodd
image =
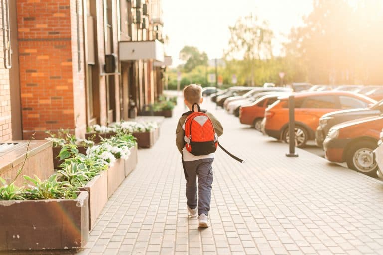
M24 197L30 200L38 199L75 199L77 198L76 188L67 181L58 181L57 175L53 174L49 179L41 181L38 176L34 179L24 175L26 181L30 181L33 185L24 190Z

